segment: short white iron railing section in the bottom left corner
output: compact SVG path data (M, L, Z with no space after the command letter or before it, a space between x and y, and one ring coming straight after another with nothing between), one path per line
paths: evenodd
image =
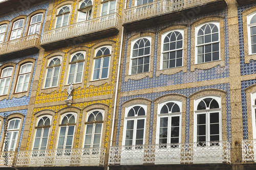
M1 167L12 167L15 165L16 152L0 152L0 168Z

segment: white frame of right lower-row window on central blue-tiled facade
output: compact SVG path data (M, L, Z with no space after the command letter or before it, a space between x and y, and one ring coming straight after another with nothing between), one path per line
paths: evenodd
M205 110L197 110L198 104L206 99L211 98L218 102L219 108L218 109L209 109L206 108ZM197 141L197 115L198 114L205 114L206 115L206 143L209 144L210 142L210 113L219 112L219 141L222 140L222 108L221 108L221 96L218 95L205 95L200 96L199 98L195 99L194 101L194 142Z

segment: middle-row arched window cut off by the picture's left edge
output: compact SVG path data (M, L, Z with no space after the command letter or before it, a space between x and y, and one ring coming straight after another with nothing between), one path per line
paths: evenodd
M10 81L12 77L12 67L6 67L2 69L1 77L0 77L0 95L5 95L8 93L8 89L10 86Z

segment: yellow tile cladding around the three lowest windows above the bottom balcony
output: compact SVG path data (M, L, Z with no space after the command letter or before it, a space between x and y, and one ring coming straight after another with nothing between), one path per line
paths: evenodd
M109 137L109 126L110 126L110 116L111 116L111 106L112 106L112 100L111 99L106 99L106 100L98 100L98 101L90 101L90 102L82 102L82 103L75 103L75 104L72 104L71 106L73 107L76 107L76 108L79 108L79 109L83 109L89 105L92 105L92 104L95 104L95 103L102 103L102 104L106 104L109 106L109 110L108 110L108 114L107 114L107 119L106 119L106 129L105 129L105 138L104 138L104 147L106 148L107 145L108 145L108 137ZM34 108L33 110L33 114L32 114L32 118L31 118L31 124L30 124L30 128L29 128L29 134L28 134L28 140L27 140L27 145L26 145L26 150L29 149L29 142L30 140L33 140L31 139L31 132L32 132L32 127L35 126L33 125L33 121L34 121L34 114L38 111L41 111L41 110L45 110L45 109L50 109L50 110L53 110L55 111L55 116L53 117L53 131L52 131L52 135L51 135L51 142L50 142L50 149L53 149L52 148L52 145L53 145L53 141L56 140L54 139L54 133L55 133L55 128L56 128L56 124L57 124L57 112L63 108L66 108L67 105L57 105L57 106L49 106L49 107L40 107L40 108ZM84 124L82 122L82 111L80 112L80 115L79 115L79 123L78 123L78 132L77 132L77 139L76 139L76 145L75 145L75 148L79 148L79 145L78 145L78 141L79 141L79 138L83 136L83 134L81 134L80 132L83 132L81 130L81 125ZM57 131L57 130L56 130Z

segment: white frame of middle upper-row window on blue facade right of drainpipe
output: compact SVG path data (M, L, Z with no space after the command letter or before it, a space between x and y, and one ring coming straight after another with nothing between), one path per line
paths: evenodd
M182 35L182 48L177 48L175 50L169 50L169 51L163 51L163 43L164 43L164 38L171 32L175 32L175 31L178 31L181 33ZM177 41L176 41L177 42ZM176 51L180 51L182 50L182 65L181 66L178 66L178 67L183 67L183 61L184 61L184 30L183 29L175 29L175 30L171 30L171 31L167 31L165 33L162 34L162 37L161 37L161 59L160 59L160 69L170 69L170 68L163 68L163 54L164 53L168 53L168 52L176 52ZM177 58L175 59L177 60ZM177 68L176 67L172 67L172 68Z

